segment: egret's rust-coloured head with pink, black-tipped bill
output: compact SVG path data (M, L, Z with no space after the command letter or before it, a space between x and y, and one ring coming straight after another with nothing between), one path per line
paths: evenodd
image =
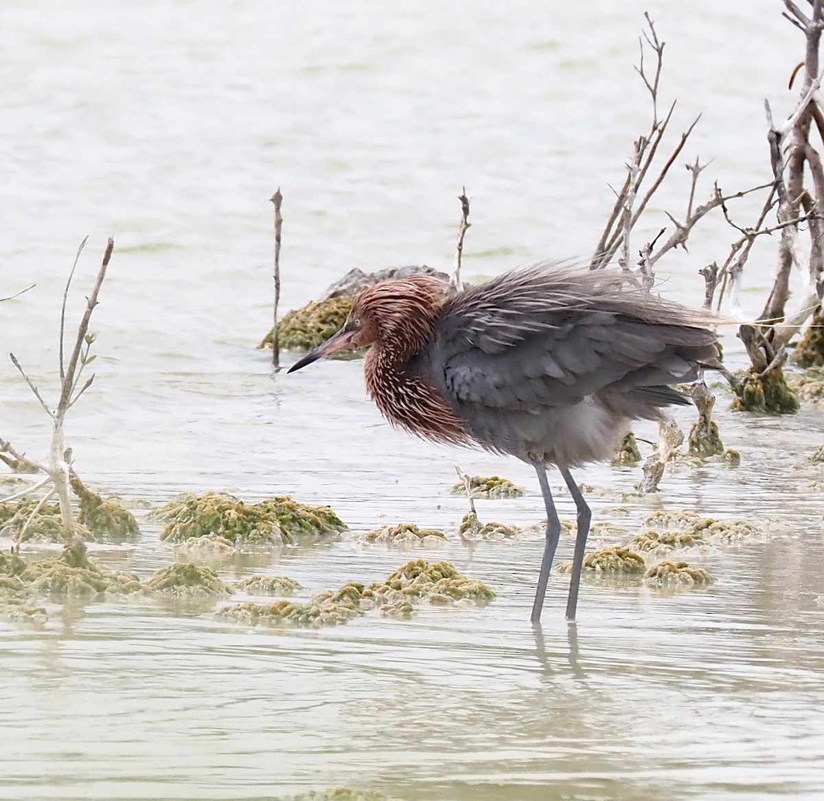
M338 350L373 344L414 354L423 347L447 297L447 284L428 275L376 283L355 296L343 328L295 362L288 372Z

